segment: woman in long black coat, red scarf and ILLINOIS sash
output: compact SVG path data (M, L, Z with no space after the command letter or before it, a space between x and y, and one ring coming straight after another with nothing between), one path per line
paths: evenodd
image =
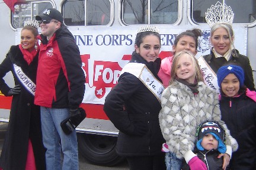
M0 65L0 90L5 96L12 96L8 130L0 158L2 169L46 169L40 107L34 105L39 57L38 26L36 21L25 21L21 44L11 46ZM3 79L9 71L14 76L14 88L10 88Z

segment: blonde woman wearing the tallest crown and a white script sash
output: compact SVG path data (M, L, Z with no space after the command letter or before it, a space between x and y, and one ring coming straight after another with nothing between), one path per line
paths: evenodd
M206 12L206 21L210 25L210 42L212 48L210 54L199 58L199 64L204 76L204 82L213 90L219 93L219 86L217 85L217 70L225 65L235 63L243 68L245 73L245 86L249 90L255 90L254 79L252 76L252 68L247 56L239 54L233 45L235 35L232 29L232 22L234 14L230 6L223 4L222 10L213 15L216 6L212 5ZM225 14L226 12L226 14ZM216 16L216 18L212 18ZM244 45L244 44L241 44Z

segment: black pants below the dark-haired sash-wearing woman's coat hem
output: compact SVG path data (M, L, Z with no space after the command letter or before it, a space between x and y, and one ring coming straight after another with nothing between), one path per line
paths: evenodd
M166 170L165 153L153 156L126 157L130 170Z

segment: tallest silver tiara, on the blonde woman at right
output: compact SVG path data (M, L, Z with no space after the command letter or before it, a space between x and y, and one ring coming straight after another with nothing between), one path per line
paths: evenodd
M222 22L232 25L234 17L231 6L227 6L225 1L223 1L223 4L218 1L215 5L212 5L210 9L207 9L205 15L206 22L210 27L212 27L215 23Z

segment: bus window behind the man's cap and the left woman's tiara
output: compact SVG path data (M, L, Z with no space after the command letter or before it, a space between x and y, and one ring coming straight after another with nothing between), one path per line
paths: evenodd
M36 18L36 15L42 14L47 8L53 8L50 2L26 2L24 4L15 4L15 12L12 14L12 26L14 28L24 27L26 19ZM31 11L31 9L33 9Z

